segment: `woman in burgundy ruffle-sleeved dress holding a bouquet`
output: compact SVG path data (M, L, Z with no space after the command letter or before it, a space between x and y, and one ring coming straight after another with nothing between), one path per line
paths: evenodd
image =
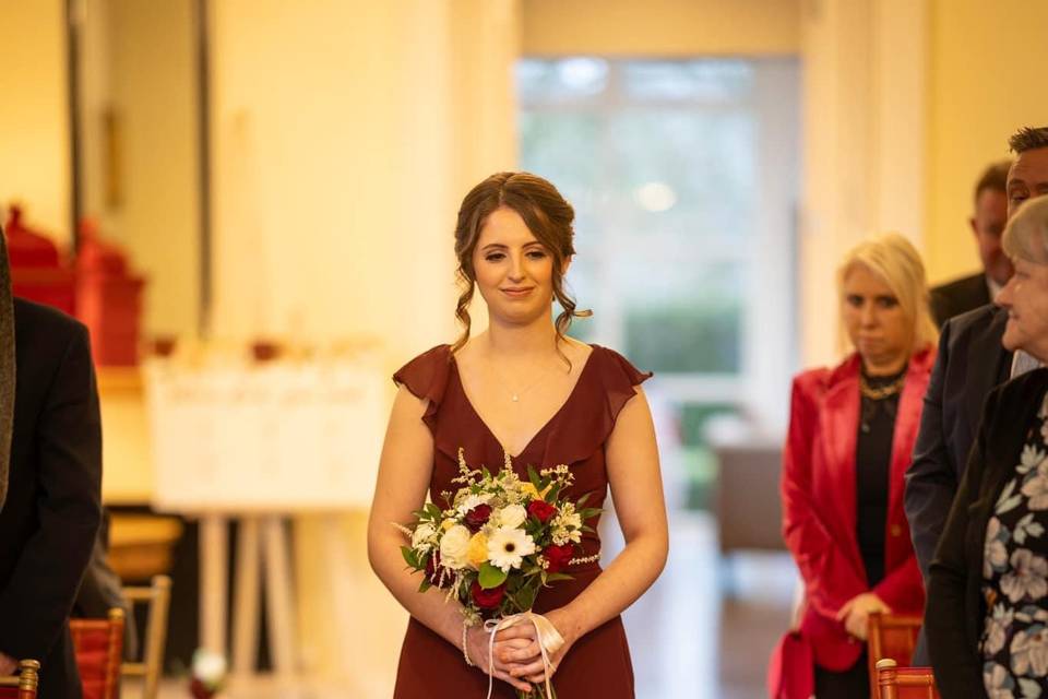
M567 464L572 500L610 486L626 548L603 570L575 565L573 580L541 591L535 612L564 637L550 657L562 699L633 697L630 651L619 614L655 581L666 561L668 535L658 452L638 371L611 350L565 336L582 315L563 288L574 254L574 212L552 185L526 173L500 173L463 200L455 253L463 293L456 315L464 325L454 345L416 357L394 376L401 387L379 469L368 531L371 565L410 613L397 670L396 699L486 696L488 635L464 630L461 607L436 588L418 592L405 570L393 523L407 524L427 499L442 503L454 491L456 455L471 465L501 467L504 454L525 475L527 465ZM488 329L469 337L468 307L479 292ZM553 300L564 309L556 321ZM597 522L588 522L596 529ZM585 553L600 550L596 533ZM528 690L545 670L531 625L499 631L493 676L500 698Z

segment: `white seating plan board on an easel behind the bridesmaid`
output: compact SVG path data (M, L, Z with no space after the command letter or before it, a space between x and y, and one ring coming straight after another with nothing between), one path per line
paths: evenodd
M378 363L145 367L160 510L368 507L389 417Z

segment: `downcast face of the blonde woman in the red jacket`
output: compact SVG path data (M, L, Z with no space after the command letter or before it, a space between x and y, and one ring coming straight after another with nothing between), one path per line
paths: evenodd
M865 264L844 277L842 316L848 339L868 369L901 369L913 347L913 324L884 281Z

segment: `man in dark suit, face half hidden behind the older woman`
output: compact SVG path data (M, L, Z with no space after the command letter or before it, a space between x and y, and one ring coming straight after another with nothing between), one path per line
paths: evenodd
M1008 175L1008 214L1029 197L1048 193L1048 127L1022 129L1009 144L1016 154ZM946 514L967 464L987 394L1009 376L1033 368L1025 354L1001 345L1008 313L985 306L948 321L939 337L914 462L906 474L905 508L925 580ZM927 665L920 643L915 664Z

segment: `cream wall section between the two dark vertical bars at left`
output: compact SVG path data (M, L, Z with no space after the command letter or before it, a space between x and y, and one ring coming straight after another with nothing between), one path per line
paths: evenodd
M84 115L105 142L104 110L116 118L121 201L94 199L104 233L147 280L143 330L196 333L200 196L195 21L192 0L92 0L108 16L108 99ZM85 139L86 140L86 139ZM106 161L85 175L105 179Z

